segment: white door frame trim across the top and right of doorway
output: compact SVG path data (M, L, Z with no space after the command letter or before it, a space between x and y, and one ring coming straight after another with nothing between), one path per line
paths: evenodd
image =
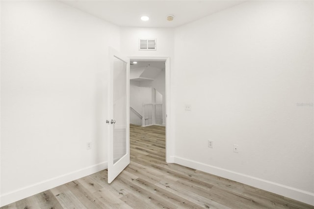
M173 131L174 129L170 129L173 127L171 121L171 77L170 77L170 57L168 56L129 56L130 61L165 61L165 89L166 89L166 162L173 163L174 155L173 155L173 144L174 137Z

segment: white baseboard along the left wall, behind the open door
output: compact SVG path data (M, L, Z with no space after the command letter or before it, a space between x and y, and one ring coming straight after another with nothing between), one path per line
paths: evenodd
M32 185L17 189L15 191L5 193L0 196L0 207L8 205L10 203L14 203L18 200L22 200L26 197L38 194L40 192L46 191L53 187L62 185L64 183L68 183L84 176L91 175L93 173L99 172L101 170L107 169L108 163L101 162L96 165L91 165L86 168L82 168L76 171L73 171L68 174L64 174L52 179L48 179L46 181L34 183Z

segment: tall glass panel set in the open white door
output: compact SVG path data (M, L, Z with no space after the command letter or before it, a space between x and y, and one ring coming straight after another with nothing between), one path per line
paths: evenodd
M113 62L113 164L127 154L126 139L127 63L114 57Z

